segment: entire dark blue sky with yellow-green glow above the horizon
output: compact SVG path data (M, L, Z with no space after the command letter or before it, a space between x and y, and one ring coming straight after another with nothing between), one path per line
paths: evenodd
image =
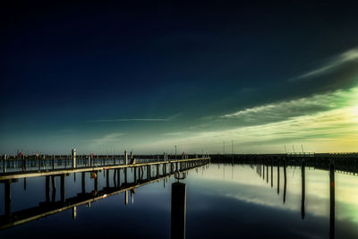
M357 151L356 5L119 2L3 4L0 153Z

